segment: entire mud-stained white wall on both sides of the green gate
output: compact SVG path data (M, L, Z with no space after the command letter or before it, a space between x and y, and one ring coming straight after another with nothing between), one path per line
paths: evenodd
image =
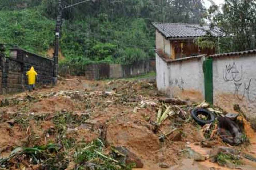
M239 104L247 118L256 118L256 50L178 60L156 55L158 89L172 97L203 101L205 58L213 58L214 105L233 113Z

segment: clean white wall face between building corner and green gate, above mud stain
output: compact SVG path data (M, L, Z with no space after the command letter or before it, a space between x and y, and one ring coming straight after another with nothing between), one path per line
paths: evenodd
M170 91L190 90L204 94L204 75L201 58L170 63Z

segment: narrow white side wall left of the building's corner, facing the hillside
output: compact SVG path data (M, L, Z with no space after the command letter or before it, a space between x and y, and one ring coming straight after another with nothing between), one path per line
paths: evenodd
M156 81L157 81L157 88L160 91L165 91L168 93L169 91L169 75L170 71L168 68L168 63L166 63L161 57L156 54Z

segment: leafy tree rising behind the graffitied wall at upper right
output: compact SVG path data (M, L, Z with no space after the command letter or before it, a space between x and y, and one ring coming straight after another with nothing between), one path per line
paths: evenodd
M208 10L207 19L212 25L217 25L231 39L228 43L232 51L249 50L255 48L256 33L256 1L255 0L225 0L219 11L218 6Z

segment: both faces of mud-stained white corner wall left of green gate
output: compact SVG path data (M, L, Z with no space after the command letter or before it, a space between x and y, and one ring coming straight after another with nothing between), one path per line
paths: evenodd
M171 97L203 100L204 74L202 58L166 60L156 54L157 88Z

